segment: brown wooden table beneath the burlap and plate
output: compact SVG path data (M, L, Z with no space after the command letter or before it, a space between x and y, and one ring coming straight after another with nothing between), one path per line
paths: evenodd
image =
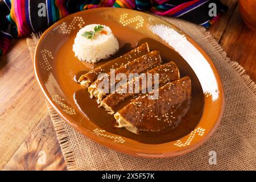
M256 32L242 22L237 0L208 31L231 60L256 81ZM65 170L65 162L36 83L26 39L14 40L0 57L0 169ZM46 164L42 163L42 151Z

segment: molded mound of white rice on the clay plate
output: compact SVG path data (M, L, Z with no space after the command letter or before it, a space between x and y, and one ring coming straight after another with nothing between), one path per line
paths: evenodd
M86 31L94 31L94 27L98 25L89 24L77 32L73 44L73 51L79 60L96 63L101 59L107 59L110 55L118 51L119 45L117 38L115 38L108 26L102 25L104 28L97 32L92 39L82 36Z

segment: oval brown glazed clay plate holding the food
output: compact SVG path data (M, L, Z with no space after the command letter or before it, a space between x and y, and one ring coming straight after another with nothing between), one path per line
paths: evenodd
M77 32L93 23L109 26L118 39L119 51L110 59L147 42L164 62L177 64L181 77L191 78L191 109L174 130L137 135L118 129L113 115L98 108L96 100L74 81L110 60L84 63L72 51ZM216 130L224 107L220 77L203 49L174 25L139 11L99 8L61 19L39 40L35 75L49 103L69 125L97 143L135 156L164 158L192 151Z

